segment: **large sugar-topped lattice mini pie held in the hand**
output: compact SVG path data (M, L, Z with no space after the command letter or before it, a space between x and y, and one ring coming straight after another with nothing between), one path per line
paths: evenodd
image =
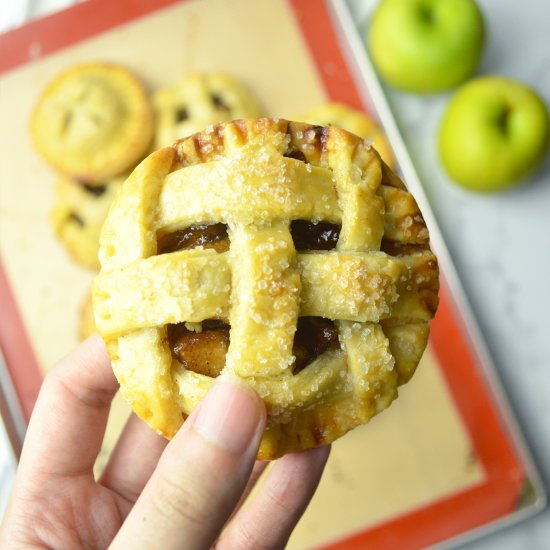
M133 172L101 233L94 313L121 391L172 437L216 376L263 398L259 457L330 443L397 396L438 268L414 198L366 143L221 124Z

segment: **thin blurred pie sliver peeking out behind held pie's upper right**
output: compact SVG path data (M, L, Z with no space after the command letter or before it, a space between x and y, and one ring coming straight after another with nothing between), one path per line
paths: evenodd
M367 138L380 153L382 160L390 167L395 166L393 153L384 132L363 111L352 109L342 103L327 103L298 115L297 120L320 126L337 126L356 136Z

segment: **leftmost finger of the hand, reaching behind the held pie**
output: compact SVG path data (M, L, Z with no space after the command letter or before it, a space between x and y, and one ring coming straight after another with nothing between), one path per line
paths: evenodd
M95 334L60 361L42 384L21 454L20 477L92 472L118 383Z

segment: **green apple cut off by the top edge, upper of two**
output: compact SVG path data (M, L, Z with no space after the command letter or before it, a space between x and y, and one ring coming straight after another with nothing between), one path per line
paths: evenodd
M474 0L382 0L366 42L389 84L430 93L452 88L475 72L484 36Z

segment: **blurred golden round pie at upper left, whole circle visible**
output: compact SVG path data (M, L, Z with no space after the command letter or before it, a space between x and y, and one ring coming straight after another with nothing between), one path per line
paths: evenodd
M107 63L77 65L55 78L33 111L31 137L44 159L79 181L131 170L153 137L153 111L139 80Z

